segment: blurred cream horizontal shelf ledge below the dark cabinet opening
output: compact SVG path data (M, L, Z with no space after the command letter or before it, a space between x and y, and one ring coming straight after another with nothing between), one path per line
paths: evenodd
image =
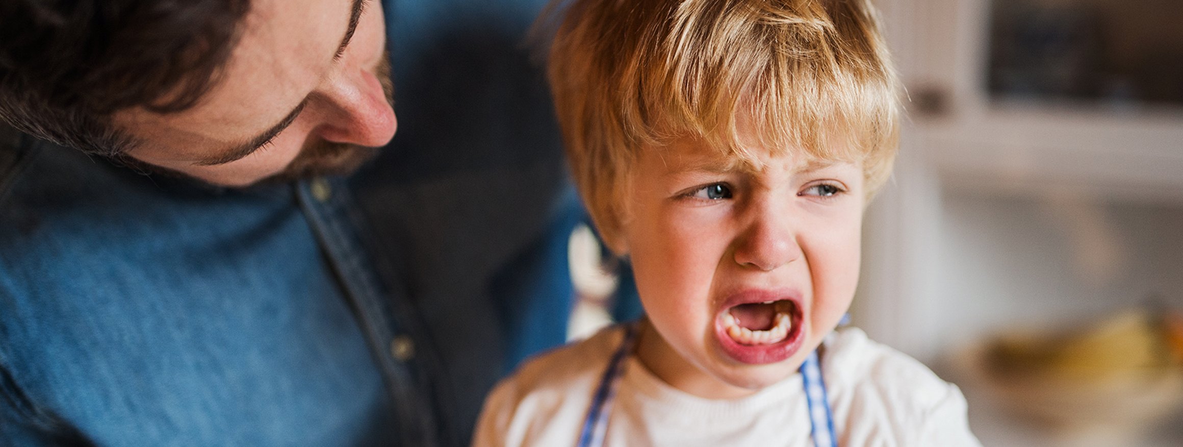
M1062 189L1114 201L1183 203L1183 111L995 105L927 119L920 147L943 187L1029 195Z

